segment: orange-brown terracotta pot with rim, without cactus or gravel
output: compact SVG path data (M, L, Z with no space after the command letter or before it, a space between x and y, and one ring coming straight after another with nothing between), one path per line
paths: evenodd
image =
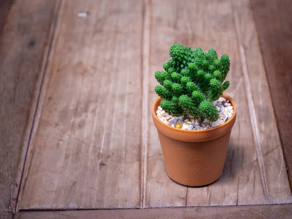
M158 131L168 176L186 186L207 185L222 174L231 129L236 120L236 104L227 94L222 97L233 106L232 117L224 124L206 130L183 130L161 122L156 110L158 97L152 105L152 118Z

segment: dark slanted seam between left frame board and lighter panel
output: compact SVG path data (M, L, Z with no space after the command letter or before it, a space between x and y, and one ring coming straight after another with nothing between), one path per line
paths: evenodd
M28 125L27 130L26 130L25 138L23 141L23 148L24 148L24 152L22 153L23 164L20 166L21 173L20 173L20 176L18 178L18 182L19 182L18 189L17 189L16 193L14 194L15 200L12 200L12 202L11 202L12 209L14 209L14 214L16 213L16 211L18 209L18 205L20 202L19 199L21 199L20 191L23 190L26 175L27 175L28 168L29 168L29 161L30 161L29 154L30 154L30 150L31 150L30 144L32 142L31 140L34 136L34 133L37 131L37 124L38 124L40 111L41 111L41 105L42 105L42 103L40 103L40 100L41 100L41 96L42 96L42 93L44 90L43 89L44 78L45 78L45 74L47 71L49 57L50 57L50 53L51 53L53 42L54 42L55 29L56 29L56 25L57 25L57 21L58 21L58 15L60 12L61 4L62 4L62 0L58 0L57 4L56 4L56 8L55 8L55 17L53 20L53 25L51 27L48 50L46 51L46 55L44 55L44 59L43 59L43 63L42 63L43 68L41 70L40 77L37 81L35 95L34 95L34 99L32 101L32 108L30 111L30 118L29 118L29 121L31 121L31 122L29 122L29 125Z

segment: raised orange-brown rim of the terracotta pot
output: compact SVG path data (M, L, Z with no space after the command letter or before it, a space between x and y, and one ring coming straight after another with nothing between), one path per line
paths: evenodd
M157 97L152 104L152 118L153 118L154 125L156 126L158 131L162 132L164 135L170 138L181 140L181 141L201 142L201 141L207 141L207 140L218 138L226 134L228 131L232 129L236 120L236 115L237 115L237 107L233 98L231 98L226 93L223 93L221 97L225 98L226 100L229 100L229 103L233 107L234 112L231 118L227 122L217 127L208 128L204 130L185 130L185 129L173 128L163 123L162 121L160 121L160 119L158 119L156 115L156 110L160 102L162 101L161 97ZM201 134L201 137L199 134Z

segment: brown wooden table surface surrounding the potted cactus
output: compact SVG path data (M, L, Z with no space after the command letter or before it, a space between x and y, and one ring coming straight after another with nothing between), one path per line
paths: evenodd
M0 218L292 218L291 2L9 5ZM167 177L152 123L153 73L172 43L231 58L237 122L221 178L204 187Z

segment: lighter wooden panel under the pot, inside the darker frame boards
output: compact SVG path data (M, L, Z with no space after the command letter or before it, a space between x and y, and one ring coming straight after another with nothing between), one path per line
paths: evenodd
M232 62L237 123L206 187L167 177L149 110L174 42ZM275 127L248 0L63 0L18 209L291 203Z

